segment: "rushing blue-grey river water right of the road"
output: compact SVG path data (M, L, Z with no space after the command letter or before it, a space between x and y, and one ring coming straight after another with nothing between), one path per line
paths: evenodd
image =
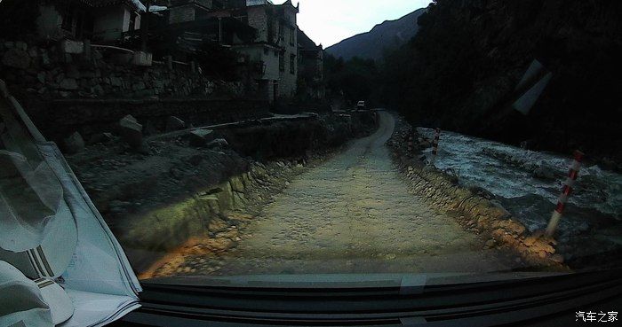
M418 130L422 136L434 137L433 129ZM428 158L431 151L427 149L425 152ZM571 162L570 153L561 156L533 152L443 131L435 166L443 170L451 168L465 186L479 186L490 191L510 213L533 231L546 227ZM534 174L536 170L539 174ZM596 165L581 167L560 226L562 234L619 225L620 221L622 175Z

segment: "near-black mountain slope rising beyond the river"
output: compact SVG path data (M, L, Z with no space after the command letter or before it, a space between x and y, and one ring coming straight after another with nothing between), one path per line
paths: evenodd
M411 121L620 163L620 17L618 0L438 0L390 60L384 96ZM553 78L524 116L510 105L534 59Z

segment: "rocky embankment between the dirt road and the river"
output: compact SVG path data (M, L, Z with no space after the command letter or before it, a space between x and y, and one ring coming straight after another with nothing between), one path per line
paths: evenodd
M408 151L409 136L412 152ZM425 196L439 210L454 215L466 230L487 237L487 247L516 251L525 263L524 269L568 269L562 255L555 253L553 238L529 235L521 222L491 201L486 191L461 187L451 172L427 165L419 151L431 146L431 142L419 136L407 122L398 121L388 145L411 190Z

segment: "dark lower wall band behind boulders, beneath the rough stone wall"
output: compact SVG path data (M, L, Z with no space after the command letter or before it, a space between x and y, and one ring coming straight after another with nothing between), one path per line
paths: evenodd
M76 99L53 100L39 106L31 103L28 109L45 136L60 140L76 131L88 137L114 130L127 114L148 124L154 129L151 132L162 132L170 116L203 126L266 117L269 104L244 99Z

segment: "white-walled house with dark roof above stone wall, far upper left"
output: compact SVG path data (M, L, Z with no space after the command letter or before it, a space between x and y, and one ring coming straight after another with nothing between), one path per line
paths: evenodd
M139 0L39 1L38 35L46 40L92 39L114 43L126 32L140 29Z

